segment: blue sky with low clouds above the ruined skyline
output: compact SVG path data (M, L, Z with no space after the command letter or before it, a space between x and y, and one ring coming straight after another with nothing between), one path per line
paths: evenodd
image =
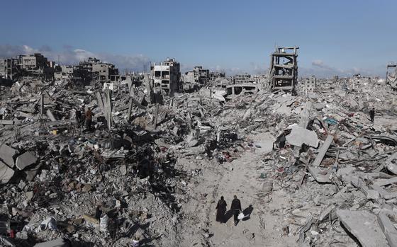
M275 45L297 45L301 75L384 76L397 61L396 9L366 0L4 1L0 56L94 55L131 69L175 57L184 70L233 74L264 72Z

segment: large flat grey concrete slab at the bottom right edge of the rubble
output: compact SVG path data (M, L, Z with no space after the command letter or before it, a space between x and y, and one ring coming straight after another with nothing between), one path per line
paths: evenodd
M336 214L343 226L357 238L362 247L388 246L376 215L367 211L347 209L338 209Z

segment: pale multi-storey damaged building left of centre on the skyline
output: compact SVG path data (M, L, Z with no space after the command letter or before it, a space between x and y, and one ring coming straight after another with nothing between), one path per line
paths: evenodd
M155 93L172 96L179 91L181 80L180 64L175 59L168 59L161 64L150 66L152 75L152 88Z

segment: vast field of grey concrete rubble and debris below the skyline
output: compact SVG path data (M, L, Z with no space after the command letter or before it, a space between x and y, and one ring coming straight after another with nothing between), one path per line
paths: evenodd
M87 89L0 91L0 246L397 246L384 83L229 100L216 84L162 100ZM216 222L233 195L247 217Z

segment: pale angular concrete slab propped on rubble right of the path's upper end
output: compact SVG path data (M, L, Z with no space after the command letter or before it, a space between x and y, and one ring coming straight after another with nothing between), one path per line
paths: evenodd
M318 137L314 131L294 125L291 127L291 134L286 136L286 141L296 147L302 147L306 144L311 147L318 147Z

